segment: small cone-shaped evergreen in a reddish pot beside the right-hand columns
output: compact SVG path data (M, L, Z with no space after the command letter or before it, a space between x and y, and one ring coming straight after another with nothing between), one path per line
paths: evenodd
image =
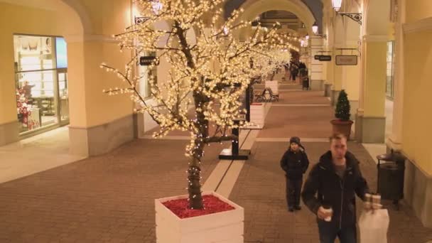
M335 117L330 123L333 125L334 134L344 134L347 139L350 139L352 121L350 120L350 101L345 90L341 90L336 103Z

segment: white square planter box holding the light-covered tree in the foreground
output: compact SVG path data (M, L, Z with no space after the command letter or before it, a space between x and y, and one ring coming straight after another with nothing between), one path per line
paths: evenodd
M234 210L217 212L180 219L162 202L188 195L155 200L156 242L157 243L243 243L244 209L215 192L203 192L202 195L214 195L234 207Z

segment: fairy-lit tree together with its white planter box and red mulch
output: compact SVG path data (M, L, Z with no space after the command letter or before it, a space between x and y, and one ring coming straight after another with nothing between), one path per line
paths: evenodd
M146 112L158 123L159 131L153 137L173 130L190 134L185 148L188 193L155 200L158 243L243 242L242 207L217 193L201 191L202 156L211 143L238 140L229 131L248 125L234 120L244 112L239 97L259 72L259 68L249 66L251 58L266 55L269 48L295 48L290 44L295 38L276 33L279 23L269 29L254 28L246 40L234 38L234 32L250 28L251 23L237 23L241 11L234 11L225 20L220 3L222 0L135 1L144 17L137 17L134 25L114 36L121 48L134 53L131 60L124 71L104 63L100 66L124 84L104 92L128 95L136 102L135 112ZM157 27L161 22L166 23L164 29ZM156 57L148 53L156 53ZM148 102L139 91L141 77L134 74L136 63L151 70L162 58L171 65L161 67L169 70L168 78L156 82L148 75L153 99ZM189 109L191 105L195 109ZM212 126L215 129L210 130Z

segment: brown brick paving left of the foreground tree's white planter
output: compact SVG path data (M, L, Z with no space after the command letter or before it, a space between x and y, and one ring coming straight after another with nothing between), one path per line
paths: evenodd
M0 242L156 242L153 200L186 193L187 142L136 140L0 184ZM202 182L227 146L206 148Z

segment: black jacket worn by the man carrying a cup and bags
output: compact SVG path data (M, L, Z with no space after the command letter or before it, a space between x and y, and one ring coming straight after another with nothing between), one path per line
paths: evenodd
M304 204L315 214L321 205L330 205L333 208L331 223L337 227L355 223L355 193L364 200L369 191L357 158L350 152L345 158L347 168L342 180L335 173L331 152L324 153L313 166L301 193Z

